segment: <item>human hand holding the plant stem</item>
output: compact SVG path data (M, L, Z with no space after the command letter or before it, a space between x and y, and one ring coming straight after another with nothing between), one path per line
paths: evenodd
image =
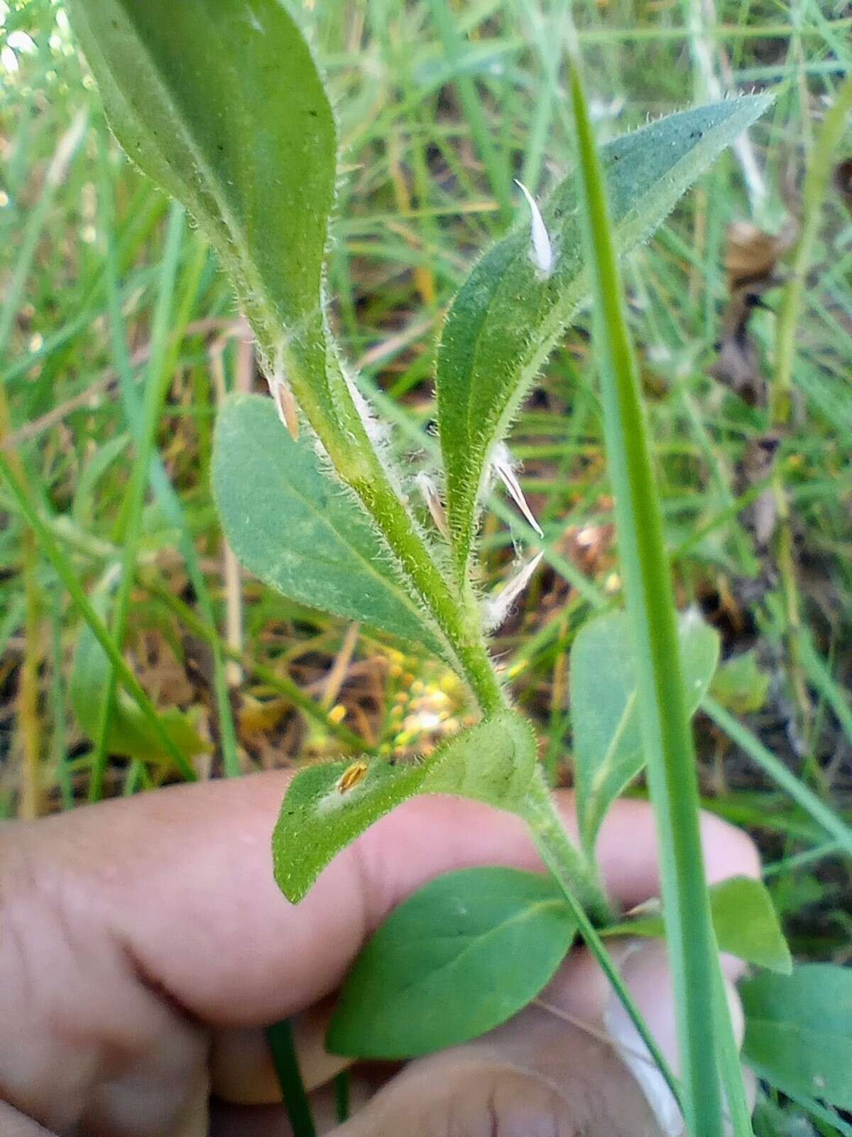
M341 854L294 907L269 853L286 781L275 772L174 787L0 827L0 1132L285 1134L282 1106L264 1104L278 1094L261 1028L289 1015L320 1131L335 1137L658 1131L605 1041L609 1029L629 1049L630 1029L584 951L534 1006L411 1063L335 1129L328 1084L342 1062L323 1047L327 997L365 938L435 875L540 862L508 814L418 798ZM559 805L570 827L570 795ZM711 881L758 872L745 835L712 816L702 831ZM645 804L618 803L599 858L621 905L657 894ZM613 951L676 1062L662 947ZM733 980L738 964L726 971ZM353 1079L356 1105L369 1088Z

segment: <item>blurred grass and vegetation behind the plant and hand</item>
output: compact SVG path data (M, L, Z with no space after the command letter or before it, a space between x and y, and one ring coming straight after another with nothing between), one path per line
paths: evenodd
M759 840L794 952L845 962L849 861L767 770L774 756L852 818L852 132L825 192L803 193L852 66L852 7L574 11L601 140L728 91L777 96L625 273L678 599L722 639L715 712L696 722L705 804ZM109 622L143 389L168 384L123 648L169 732L201 777L434 746L469 714L451 675L241 579L209 466L225 391L265 389L245 325L206 243L109 135L61 5L7 0L0 19L0 445ZM453 291L526 224L512 179L541 197L570 166L565 3L306 0L303 19L340 124L336 331L414 474L435 447L434 343ZM802 302L779 319L809 210ZM580 313L512 433L545 567L496 642L563 785L566 652L620 589L587 323ZM787 399L777 360L791 346ZM131 704L100 730L106 657L0 493L0 813L179 778ZM485 587L515 556L516 514L492 505Z

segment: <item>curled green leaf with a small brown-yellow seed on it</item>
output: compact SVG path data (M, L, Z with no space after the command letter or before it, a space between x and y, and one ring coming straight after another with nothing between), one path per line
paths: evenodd
M273 833L275 879L298 903L342 848L416 794L452 794L520 807L536 761L529 724L513 712L481 722L416 766L332 762L300 771Z

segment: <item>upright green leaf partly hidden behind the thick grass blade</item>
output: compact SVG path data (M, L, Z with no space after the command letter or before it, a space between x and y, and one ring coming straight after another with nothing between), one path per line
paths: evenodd
M712 679L719 638L693 611L678 621L686 709L694 714ZM577 816L591 853L613 802L645 765L630 621L612 612L584 624L571 647L571 723Z

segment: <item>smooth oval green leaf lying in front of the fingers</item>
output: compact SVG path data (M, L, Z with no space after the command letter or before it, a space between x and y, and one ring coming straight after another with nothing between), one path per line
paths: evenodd
M517 869L466 869L401 904L358 956L326 1045L404 1059L491 1030L553 977L576 924L553 882Z

